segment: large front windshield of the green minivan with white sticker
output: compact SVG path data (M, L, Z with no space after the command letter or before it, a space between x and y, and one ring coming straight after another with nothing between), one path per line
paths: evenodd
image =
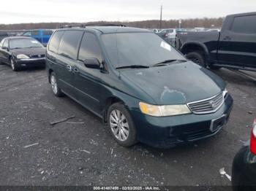
M168 60L186 60L174 47L154 33L103 34L102 42L115 68L132 65L154 66Z

